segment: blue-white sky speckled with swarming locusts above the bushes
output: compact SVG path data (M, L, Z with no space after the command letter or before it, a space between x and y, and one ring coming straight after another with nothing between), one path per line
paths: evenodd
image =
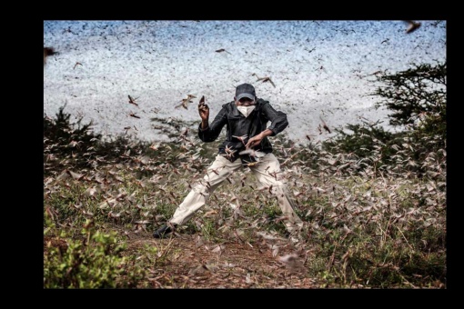
M212 121L250 83L287 114L295 142L333 136L319 133L322 120L333 129L364 117L392 131L370 95L381 85L375 76L446 61L446 20L416 22L407 33L401 20L45 20L44 47L58 54L44 66L44 115L65 106L104 137L155 143L167 136L151 118L196 128L202 95ZM186 109L187 95L195 97Z

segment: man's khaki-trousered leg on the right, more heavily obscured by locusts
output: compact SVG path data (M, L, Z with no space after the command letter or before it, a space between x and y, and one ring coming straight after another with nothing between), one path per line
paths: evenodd
M266 186L272 185L272 193L277 195L278 205L282 210L282 214L287 217L285 225L287 231L292 233L302 227L303 222L295 213L295 203L288 194L287 182L284 174L280 170L280 164L274 154L266 154L259 159L259 164L252 166L253 174L257 177L257 181Z

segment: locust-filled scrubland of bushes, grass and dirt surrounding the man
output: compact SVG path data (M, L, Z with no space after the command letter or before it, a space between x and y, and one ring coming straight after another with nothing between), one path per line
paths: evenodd
M103 142L64 109L45 117L44 287L446 288L446 64L379 78L398 133L367 121L322 145L272 140L304 220L297 243L248 169L154 239L219 141L160 120L169 143Z

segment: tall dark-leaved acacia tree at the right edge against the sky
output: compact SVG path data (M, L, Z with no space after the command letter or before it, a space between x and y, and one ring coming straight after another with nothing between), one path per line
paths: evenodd
M338 135L324 144L330 152L344 151L368 156L380 145L382 164L393 164L402 158L402 167L419 176L429 170L426 160L433 158L439 171L446 171L446 105L447 64L414 65L395 74L376 76L379 86L374 93L380 97L376 107L386 107L389 125L398 133L388 134L378 123L347 125L352 134L336 129ZM395 155L395 160L392 157Z

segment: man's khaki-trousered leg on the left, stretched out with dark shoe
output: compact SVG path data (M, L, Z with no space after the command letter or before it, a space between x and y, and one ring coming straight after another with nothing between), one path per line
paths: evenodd
M207 203L209 194L213 193L217 186L240 166L240 160L231 163L224 156L217 154L213 164L207 168L207 174L204 176L203 181L194 185L182 204L178 205L169 223L186 223L200 207Z

